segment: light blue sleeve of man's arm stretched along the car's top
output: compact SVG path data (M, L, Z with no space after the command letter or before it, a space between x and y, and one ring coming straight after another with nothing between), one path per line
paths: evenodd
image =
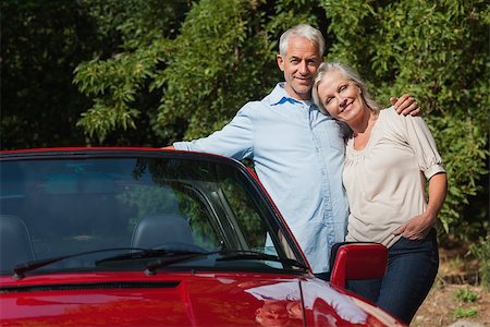
M194 150L244 159L253 154L254 102L245 105L221 131L207 137L189 142L175 142L173 146L180 150Z

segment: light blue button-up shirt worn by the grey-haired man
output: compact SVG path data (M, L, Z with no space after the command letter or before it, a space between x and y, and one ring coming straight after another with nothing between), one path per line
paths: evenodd
M247 102L221 131L176 149L250 158L315 274L329 271L330 249L344 241L348 204L342 185L343 129L284 84Z

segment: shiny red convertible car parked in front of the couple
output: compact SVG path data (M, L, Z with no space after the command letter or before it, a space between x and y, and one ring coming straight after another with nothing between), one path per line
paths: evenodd
M250 169L149 148L0 154L1 326L401 326L344 289L379 244L315 278Z

